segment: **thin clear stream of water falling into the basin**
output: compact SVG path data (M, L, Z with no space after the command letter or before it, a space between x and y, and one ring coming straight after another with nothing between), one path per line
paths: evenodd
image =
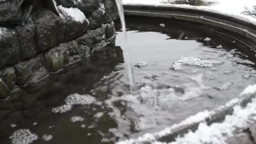
M120 21L122 24L122 31L123 31L123 38L125 40L125 48L124 48L124 54L126 58L126 63L128 64L128 76L129 76L129 82L130 82L130 88L131 93L136 91L136 83L134 78L134 72L133 72L133 61L131 58L131 52L128 46L128 40L127 40L127 32L126 32L126 26L125 26L125 16L123 11L123 5L122 0L115 0L119 12Z

